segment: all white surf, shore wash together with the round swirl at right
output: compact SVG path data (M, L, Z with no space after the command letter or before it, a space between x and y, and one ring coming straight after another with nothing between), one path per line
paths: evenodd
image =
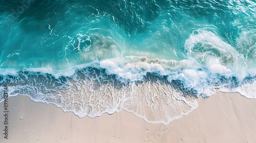
M205 51L200 51L203 44ZM242 59L231 45L214 33L199 30L198 33L190 35L185 47L189 60L130 56L96 60L63 70L23 69L28 71L30 77L25 73L19 73L22 75L19 77L17 69L0 71L4 78L9 78L7 75L15 76L9 79L10 82L16 83L18 79L22 83L10 87L11 96L20 93L36 102L55 104L64 111L74 112L79 117L95 117L105 112L112 114L125 109L149 123L168 124L197 108L194 94L187 95L191 92L196 93L196 96L209 97L215 93L215 88L219 87L221 91L240 92L247 98L256 98L256 80L253 77L255 70L247 68L246 62L241 64L241 61L246 60ZM76 71L84 77L76 74ZM145 77L148 73L157 75L158 79L144 80L148 78ZM55 79L49 78L46 74L52 75ZM117 80L113 80L112 76L104 77L105 74L116 75ZM37 78L39 75L42 78ZM167 84L165 78L159 78L163 76L170 83L181 83L181 89ZM236 77L234 81L232 77ZM245 80L245 77L250 78ZM62 81L62 78L65 80Z

